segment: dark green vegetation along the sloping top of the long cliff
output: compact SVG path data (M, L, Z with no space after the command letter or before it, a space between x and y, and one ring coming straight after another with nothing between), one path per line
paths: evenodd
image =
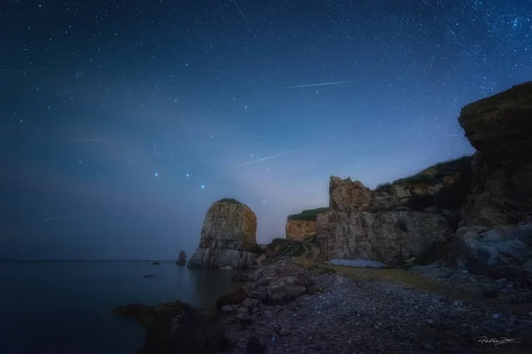
M469 169L471 169L472 160L473 160L473 155L464 155L462 157L458 157L458 159L441 161L427 169L423 169L422 171L420 171L419 173L416 173L415 175L404 177L404 178L399 178L399 179L396 179L394 182L387 182L381 185L377 185L377 187L375 188L375 191L387 189L391 187L392 185L433 183L434 181L442 177L445 177L447 175L450 175L456 172L468 171Z

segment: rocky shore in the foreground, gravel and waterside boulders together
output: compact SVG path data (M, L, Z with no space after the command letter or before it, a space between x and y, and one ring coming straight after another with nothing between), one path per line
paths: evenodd
M280 260L240 273L245 281L218 300L218 311L194 310L203 312L201 319L190 320L192 313L178 326L177 332L189 326L186 331L198 334L195 342L189 341L193 347L183 347L183 337L150 340L148 330L142 353L489 353L498 352L501 345L506 352L525 353L532 348L532 306L527 298L512 304L508 296L493 299L478 293L483 286L493 286L526 297L528 290L504 292L506 283L434 264L413 271L388 270ZM399 273L424 279L432 288L393 279ZM454 295L440 292L460 282L463 288ZM481 284L474 290L476 297L471 283ZM186 318L185 312L177 317ZM176 318L171 311L167 315ZM501 338L512 341L497 342Z

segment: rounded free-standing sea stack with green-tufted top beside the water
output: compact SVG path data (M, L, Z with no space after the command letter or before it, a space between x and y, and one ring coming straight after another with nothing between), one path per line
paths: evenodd
M189 267L242 269L254 266L257 219L251 208L235 200L216 201L208 209L200 246Z

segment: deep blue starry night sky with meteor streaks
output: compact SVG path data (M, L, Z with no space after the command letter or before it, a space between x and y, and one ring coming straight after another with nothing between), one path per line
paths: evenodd
M531 0L0 0L0 258L176 259L212 202L257 239L472 153L532 79Z

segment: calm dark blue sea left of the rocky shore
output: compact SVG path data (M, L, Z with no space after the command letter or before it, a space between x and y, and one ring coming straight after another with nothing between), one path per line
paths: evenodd
M231 274L173 262L0 262L0 353L133 354L145 332L114 308L176 299L211 307Z

